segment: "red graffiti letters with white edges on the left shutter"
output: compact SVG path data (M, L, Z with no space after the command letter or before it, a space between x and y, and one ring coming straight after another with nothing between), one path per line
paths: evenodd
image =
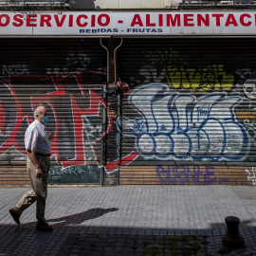
M4 92L9 94L9 97L12 97L13 101L11 102L13 104L13 108L16 109L15 119L12 119L11 122L9 121L9 123L7 123L7 113L9 111L8 107L10 101L9 103L0 103L0 134L6 137L6 140L3 141L2 145L0 144L0 155L3 155L11 147L15 147L22 154L26 155L24 145L21 143L21 139L18 139L18 133L22 130L22 128L24 128L24 121L27 122L27 125L33 121L32 113L35 108L40 103L45 102L51 108L55 121L55 131L54 139L52 141L51 155L56 155L57 159L64 165L64 167L70 165L86 164L82 117L100 116L100 107L102 102L100 95L98 95L93 90L86 89L84 82L82 82L82 76L86 76L86 74L93 74L94 76L105 76L105 74L102 74L101 72L88 72L82 70L81 72L70 73L68 76L52 73L45 76L10 76L9 81L0 80L0 82L2 82L1 86L5 86ZM80 91L76 90L74 93L68 91L70 86L65 86L67 81L70 79L74 79L77 82L77 85L74 84L72 86L76 89L79 88ZM55 90L40 94L40 91L42 91L42 86L34 85L34 91L31 92L30 97L27 97L27 101L30 101L30 104L27 103L27 101L24 103L22 102L24 96L19 95L19 93L16 92L19 90L17 89L19 88L19 85L15 85L15 81L20 80L51 81L55 87ZM80 103L78 102L78 99ZM83 103L85 101L86 103ZM66 113L71 113L72 116L68 119L69 122L72 123L70 123L70 125L66 128L64 127L65 117L63 117L65 112L60 107L60 105L58 106L60 103L57 102L63 102L64 104L70 102L69 106L71 109L69 109L69 112L68 109L66 109ZM81 105L88 105L88 102L89 107L82 108ZM29 113L26 113L27 109L29 109ZM13 117L13 114L11 115L11 117ZM10 123L12 123L12 125L10 125ZM6 129L7 126L9 126L8 129ZM25 128L23 130L25 131ZM61 134L64 135L65 133L71 133L70 130L72 130L73 137L68 138L67 141L71 141L71 143L73 143L73 147L70 147L68 151L69 153L73 151L72 155L75 155L75 157L66 159L63 156L64 149L62 146L62 139L60 137ZM96 141L98 141L98 138ZM94 154L97 156L99 155L97 152Z

